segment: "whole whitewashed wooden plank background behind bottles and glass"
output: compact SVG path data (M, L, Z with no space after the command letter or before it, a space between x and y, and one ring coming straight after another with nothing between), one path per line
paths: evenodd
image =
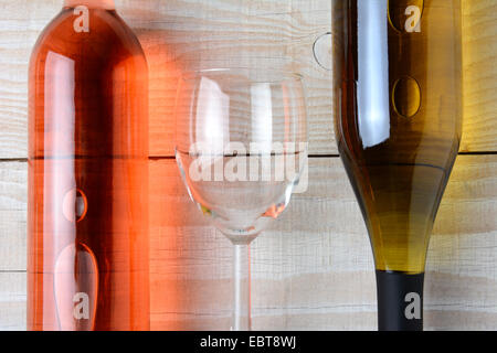
M427 330L497 330L497 1L464 2L464 141L432 237ZM0 329L25 328L27 67L56 0L0 0ZM286 62L305 76L310 186L253 244L256 330L374 330L366 227L331 122L330 74L313 44L329 0L116 0L150 71L151 322L223 330L231 315L231 244L187 197L172 153L175 75L228 62ZM318 41L318 55L329 41ZM327 56L322 64L326 66ZM329 58L328 58L329 60ZM168 158L169 157L169 158Z

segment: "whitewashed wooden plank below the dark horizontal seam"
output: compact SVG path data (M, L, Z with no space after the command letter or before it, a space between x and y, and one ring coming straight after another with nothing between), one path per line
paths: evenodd
M25 197L14 195L25 195L25 168L0 163L0 208L18 203L0 233L0 329L24 324ZM150 161L150 174L152 329L229 329L231 244L195 210L175 161ZM311 159L309 174L252 247L254 329L373 330L372 255L341 162ZM458 158L429 252L427 330L497 330L496 182L497 156Z

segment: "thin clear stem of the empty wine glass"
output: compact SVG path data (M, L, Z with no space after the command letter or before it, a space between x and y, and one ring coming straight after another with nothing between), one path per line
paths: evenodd
M251 246L235 244L233 331L251 330Z

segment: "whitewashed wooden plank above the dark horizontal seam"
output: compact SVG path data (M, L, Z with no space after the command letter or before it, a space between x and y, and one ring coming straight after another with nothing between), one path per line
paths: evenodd
M27 157L27 71L40 31L62 1L0 3L0 159ZM330 30L327 0L117 0L150 66L150 153L171 156L178 74L212 66L285 66L304 75L311 154L337 153L330 73L313 45ZM465 135L462 150L497 150L496 4L464 0ZM325 47L320 51L326 53Z

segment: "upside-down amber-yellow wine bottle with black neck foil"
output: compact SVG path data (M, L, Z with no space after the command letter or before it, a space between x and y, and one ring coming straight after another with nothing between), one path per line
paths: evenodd
M332 1L336 135L380 330L423 329L426 252L462 135L461 0Z

